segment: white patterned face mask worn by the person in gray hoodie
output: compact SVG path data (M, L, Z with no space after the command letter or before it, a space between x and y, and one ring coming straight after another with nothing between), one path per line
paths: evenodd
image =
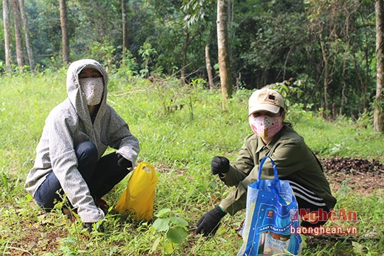
M94 106L98 105L103 98L103 77L87 77L79 79L80 89L84 93L87 99L87 105Z

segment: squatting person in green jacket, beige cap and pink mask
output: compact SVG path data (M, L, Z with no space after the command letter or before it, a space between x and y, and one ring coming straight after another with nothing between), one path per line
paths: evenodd
M249 124L253 134L245 138L237 159L230 163L224 156L214 156L212 174L227 186L234 186L228 197L205 213L197 223L196 234L215 234L221 218L246 208L246 190L256 181L260 161L270 156L276 163L279 179L288 180L297 199L302 227L325 224L327 213L336 204L330 184L318 158L290 123L285 123L283 97L272 89L260 89L249 98ZM263 165L260 179L273 179L270 161ZM304 214L305 213L305 214ZM320 216L318 213L323 213Z

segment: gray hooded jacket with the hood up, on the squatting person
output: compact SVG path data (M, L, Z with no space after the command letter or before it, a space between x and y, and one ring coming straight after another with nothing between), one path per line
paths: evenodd
M94 123L79 85L78 77L83 68L96 68L103 75L103 98ZM33 196L47 174L54 172L83 223L95 223L102 220L104 214L96 206L87 183L77 170L75 147L80 142L94 142L100 159L110 146L130 160L133 166L140 150L138 139L131 134L128 124L106 103L107 86L108 74L97 61L82 59L69 66L66 79L68 98L47 116L36 148L34 167L25 183L27 192Z

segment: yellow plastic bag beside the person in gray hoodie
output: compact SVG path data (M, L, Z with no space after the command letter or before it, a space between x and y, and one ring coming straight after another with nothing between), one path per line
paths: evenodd
M115 210L119 213L133 212L136 220L151 220L154 216L154 196L157 181L154 166L149 163L140 163L133 170Z

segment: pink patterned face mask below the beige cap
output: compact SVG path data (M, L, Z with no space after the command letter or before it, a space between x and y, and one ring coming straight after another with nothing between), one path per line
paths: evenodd
M283 127L282 116L249 116L249 125L253 133L260 137L272 137Z

